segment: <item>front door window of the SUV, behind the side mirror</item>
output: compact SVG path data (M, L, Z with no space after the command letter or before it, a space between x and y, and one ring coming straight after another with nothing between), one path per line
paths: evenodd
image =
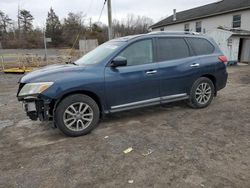
M142 65L153 62L152 40L143 40L127 47L119 56L125 57L128 66Z

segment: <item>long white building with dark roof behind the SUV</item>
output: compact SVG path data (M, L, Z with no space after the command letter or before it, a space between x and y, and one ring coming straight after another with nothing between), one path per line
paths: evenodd
M250 0L220 0L177 12L152 31L190 31L212 36L229 61L250 62Z

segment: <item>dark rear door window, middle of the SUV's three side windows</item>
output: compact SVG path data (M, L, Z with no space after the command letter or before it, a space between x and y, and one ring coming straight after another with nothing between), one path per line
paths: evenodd
M182 38L159 38L159 61L189 57L189 49Z

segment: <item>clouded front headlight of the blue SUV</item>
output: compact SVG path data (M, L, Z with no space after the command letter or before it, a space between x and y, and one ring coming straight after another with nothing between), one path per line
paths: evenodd
M21 91L19 92L18 96L26 96L26 95L34 95L40 94L48 89L53 82L40 82L40 83L29 83L25 84Z

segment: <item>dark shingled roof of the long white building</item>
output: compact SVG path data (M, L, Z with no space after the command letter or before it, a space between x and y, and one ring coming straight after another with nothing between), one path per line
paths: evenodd
M176 21L173 21L172 15L152 25L150 28L154 29L245 9L250 9L250 0L219 0L215 3L178 12Z

